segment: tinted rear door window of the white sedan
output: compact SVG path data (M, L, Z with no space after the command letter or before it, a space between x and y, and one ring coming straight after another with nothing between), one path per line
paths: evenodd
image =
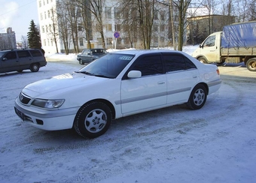
M182 55L163 55L163 60L166 63L166 73L187 69L184 56Z

